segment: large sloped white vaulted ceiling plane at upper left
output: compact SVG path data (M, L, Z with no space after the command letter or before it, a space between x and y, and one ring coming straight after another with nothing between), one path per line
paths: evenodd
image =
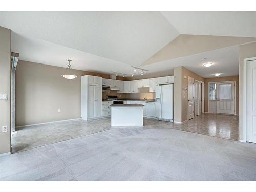
M160 12L0 12L18 34L139 66L179 33Z

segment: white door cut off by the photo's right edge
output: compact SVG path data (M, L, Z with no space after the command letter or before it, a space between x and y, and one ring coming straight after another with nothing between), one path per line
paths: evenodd
M256 60L247 62L246 140L256 143Z

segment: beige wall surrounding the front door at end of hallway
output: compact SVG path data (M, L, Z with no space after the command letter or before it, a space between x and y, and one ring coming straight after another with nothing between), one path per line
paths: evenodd
M229 77L216 77L216 78L206 78L205 79L205 87L204 87L204 111L208 112L208 83L209 82L221 82L221 81L236 81L236 112L235 114L239 114L239 76L229 76Z

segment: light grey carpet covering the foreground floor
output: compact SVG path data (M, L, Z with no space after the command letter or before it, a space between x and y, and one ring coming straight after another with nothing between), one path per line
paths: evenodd
M3 181L256 180L256 144L176 129L109 129L0 157Z

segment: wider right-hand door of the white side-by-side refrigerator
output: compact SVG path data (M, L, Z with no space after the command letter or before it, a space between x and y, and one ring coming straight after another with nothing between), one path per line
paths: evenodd
M162 118L173 120L173 85L166 84L162 87Z

